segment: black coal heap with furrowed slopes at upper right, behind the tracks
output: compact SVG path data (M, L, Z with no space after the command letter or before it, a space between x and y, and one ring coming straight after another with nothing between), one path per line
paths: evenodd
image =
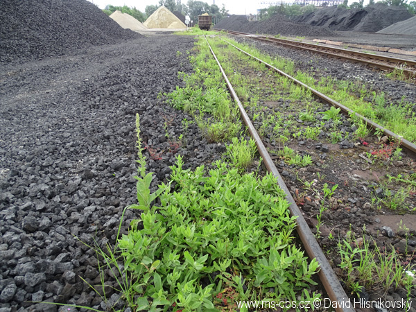
M322 8L297 17L295 21L312 26L327 26L334 31L375 33L381 29L413 17L406 8L377 3L362 9Z

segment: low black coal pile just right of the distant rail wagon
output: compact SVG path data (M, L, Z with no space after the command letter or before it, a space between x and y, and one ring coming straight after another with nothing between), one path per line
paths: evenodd
M216 29L228 31L241 31L243 33L265 33L269 35L295 35L308 37L323 37L334 35L326 27L313 27L309 24L293 22L283 15L273 15L264 21L248 21L245 16L232 15L222 19Z

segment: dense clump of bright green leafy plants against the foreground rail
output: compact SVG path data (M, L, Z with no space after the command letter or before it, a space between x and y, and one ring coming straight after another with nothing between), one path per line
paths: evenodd
M218 295L229 309L236 300L303 297L318 263L294 245L295 218L275 177L241 175L219 161L208 174L183 164L177 156L171 191L162 184L139 193L148 178L137 179L137 206L148 209L135 223L142 228L118 245L137 298L132 308L218 311ZM160 205L152 205L157 196Z

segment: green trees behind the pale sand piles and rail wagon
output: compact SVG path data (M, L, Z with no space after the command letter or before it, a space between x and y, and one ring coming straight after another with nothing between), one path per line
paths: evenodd
M144 22L146 19L155 12L161 6L166 6L171 12L178 11L182 15L189 15L194 24L198 22L198 16L204 13L208 13L212 17L212 21L216 24L218 21L228 15L228 10L223 5L219 8L216 4L209 5L203 1L189 0L187 4L182 3L182 0L159 0L159 6L152 5L146 6L144 12L137 10L137 8L129 8L128 6L106 6L103 12L107 15L111 15L114 11L119 10L123 13L127 13L135 19Z

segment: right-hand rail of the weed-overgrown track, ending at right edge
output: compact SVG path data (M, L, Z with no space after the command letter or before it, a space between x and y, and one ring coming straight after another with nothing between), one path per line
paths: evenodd
M227 42L227 40L224 40L221 37L220 37L220 40L223 40L224 42ZM232 44L230 42L227 42L227 44L229 44L231 46L234 46L234 44ZM315 95L315 97L319 98L320 100L324 101L325 103L328 103L329 105L333 105L335 107L338 107L341 110L343 110L343 112L345 112L347 114L354 114L354 116L357 116L359 119L363 120L367 124L367 126L370 125L370 127L373 128L374 130L377 130L377 129L381 130L384 135L386 135L388 137L398 139L399 141L401 141L401 143L400 143L401 146L404 146L405 148L407 148L411 152L416 153L416 145L413 144L412 142L410 142L410 141L404 139L403 137L395 134L394 132L382 127L378 123L374 123L374 121L371 121L370 119L367 119L365 116L354 112L354 110L348 108L347 106L345 106L341 103L338 103L337 101L335 101L332 98L330 98L329 96L326 96L325 94L319 92L318 90L315 90L312 87L309 87L309 85L306 85L306 84L302 83L302 81L297 80L296 78L293 78L292 76L288 75L284 71L281 71L280 69L277 69L276 67L268 64L267 62L264 62L263 60L260 60L259 58L256 58L255 56L251 55L250 53L245 52L244 50L240 49L238 46L234 46L234 48L241 51L242 53L245 53L246 55L250 56L251 58L254 58L255 60L265 64L266 67L272 69L273 71L276 71L277 73L281 74L281 76L285 76L286 78L289 78L290 80L293 80L295 83L297 83L297 85L300 85L300 86L304 87L305 89L311 91L312 94Z

